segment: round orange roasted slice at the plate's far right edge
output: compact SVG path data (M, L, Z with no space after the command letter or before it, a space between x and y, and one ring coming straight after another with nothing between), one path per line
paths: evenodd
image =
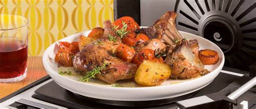
M218 62L219 55L218 52L214 50L205 49L199 51L198 58L204 65L211 65Z

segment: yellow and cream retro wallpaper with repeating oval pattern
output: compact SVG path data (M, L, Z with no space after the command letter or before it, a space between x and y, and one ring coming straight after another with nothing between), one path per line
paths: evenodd
M0 0L0 14L29 19L29 56L55 41L113 22L113 0Z

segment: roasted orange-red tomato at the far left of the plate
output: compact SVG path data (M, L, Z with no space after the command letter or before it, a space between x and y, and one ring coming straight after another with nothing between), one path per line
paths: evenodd
M79 51L78 42L59 42L59 50L55 56L55 62L59 66L73 66L73 57Z

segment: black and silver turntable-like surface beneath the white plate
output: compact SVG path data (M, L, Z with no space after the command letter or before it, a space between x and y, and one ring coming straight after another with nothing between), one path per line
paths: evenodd
M215 92L225 92L226 95L230 94L251 78L248 77L247 73L241 73L242 72L236 70L222 70L211 84L195 93L190 94L188 97L205 97L209 94L214 94ZM185 99L187 100L187 97L185 97ZM156 100L155 102L151 101L151 103L138 101L131 102L129 106L120 106L123 105L122 101L77 97L74 93L65 90L57 85L55 81L49 79L39 85L34 85L34 87L27 89L25 92L12 96L12 98L3 101L0 104L0 108L23 106L21 104L32 108L177 108L177 103L173 101L175 101L175 99L170 101ZM242 94L242 96L235 101L237 101L238 104L245 102L245 104L248 106L256 107L254 105L256 104L256 87L254 86L250 89L250 91ZM109 105L110 103L112 103L112 105ZM144 104L147 104L147 106L143 106ZM233 108L239 108L238 106L233 106Z

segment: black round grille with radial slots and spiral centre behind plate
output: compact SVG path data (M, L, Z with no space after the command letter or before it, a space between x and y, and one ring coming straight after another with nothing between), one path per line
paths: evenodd
M256 62L255 7L254 0L181 0L176 26L217 44L225 66L248 71Z

